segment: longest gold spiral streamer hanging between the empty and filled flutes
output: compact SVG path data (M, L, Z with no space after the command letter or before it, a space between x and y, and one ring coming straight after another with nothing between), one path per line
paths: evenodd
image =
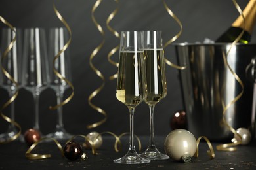
M89 95L88 103L89 103L89 105L93 109L95 109L96 111L100 112L100 114L102 114L104 116L104 118L102 120L96 122L96 123L87 125L87 129L98 127L101 124L103 124L104 122L106 122L106 120L107 120L106 112L103 109L101 109L100 107L97 107L96 105L94 105L91 102L93 97L95 97L105 86L105 78L104 78L104 76L102 75L102 73L100 73L100 71L98 69L96 69L96 67L93 65L93 62L92 62L93 58L95 58L96 54L100 51L100 49L102 48L102 46L105 43L105 33L104 33L102 27L100 26L100 24L98 24L98 22L96 22L95 16L94 16L95 10L97 9L98 5L100 5L101 1L102 0L97 0L95 5L93 5L93 9L91 11L91 18L93 20L93 23L96 25L98 31L100 31L100 33L101 33L101 35L103 37L103 40L102 40L102 42L100 42L100 44L91 53L89 63L90 63L91 69L93 69L93 71L95 71L96 75L98 75L102 79L103 82L102 82L102 84L101 84L101 86L99 88L97 88L93 93L91 93L91 95Z

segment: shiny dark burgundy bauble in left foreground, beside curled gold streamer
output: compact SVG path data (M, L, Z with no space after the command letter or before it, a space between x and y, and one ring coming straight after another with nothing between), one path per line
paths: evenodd
M81 158L83 154L82 146L79 143L75 143L74 141L70 141L66 143L64 146L64 156L68 158L68 160L77 160Z

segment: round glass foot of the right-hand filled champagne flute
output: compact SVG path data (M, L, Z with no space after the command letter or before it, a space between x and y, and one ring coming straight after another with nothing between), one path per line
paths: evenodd
M154 147L148 147L145 152L140 154L141 157L149 159L149 160L167 160L169 156L166 154L162 154L158 151L158 149Z

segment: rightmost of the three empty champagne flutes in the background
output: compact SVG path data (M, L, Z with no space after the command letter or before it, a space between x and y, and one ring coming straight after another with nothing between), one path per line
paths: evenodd
M57 105L60 105L63 100L65 90L69 87L64 80L60 80L53 72L53 66L63 77L71 80L70 73L70 56L68 49L62 52L58 59L53 63L54 56L60 52L68 41L68 30L60 28L51 28L49 32L49 67L50 67L50 87L56 92ZM54 65L53 65L54 64ZM47 137L53 137L54 139L70 139L72 135L66 132L64 129L62 118L62 107L57 108L57 123L56 129L46 135Z

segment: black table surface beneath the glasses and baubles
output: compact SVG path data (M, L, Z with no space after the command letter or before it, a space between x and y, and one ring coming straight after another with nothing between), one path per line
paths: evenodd
M128 138L122 138L121 152L114 150L114 137L102 137L104 143L98 148L98 154L93 155L91 150L85 150L85 160L69 161L62 158L58 147L54 142L39 143L32 153L52 154L51 158L41 160L28 160L25 153L28 150L26 143L18 140L0 145L0 169L256 169L256 141L253 140L246 146L238 146L234 152L223 152L215 149L217 144L212 143L215 150L215 158L207 155L209 149L207 143L200 142L199 157L193 158L191 163L181 163L173 160L154 160L150 163L139 165L123 165L114 163L113 160L121 158L128 148ZM148 137L139 137L142 143L142 151L146 148ZM164 152L163 143L165 137L155 137L156 146ZM78 143L82 139L77 138ZM60 141L64 147L65 141ZM138 149L137 141L135 146ZM139 152L139 151L138 151Z

